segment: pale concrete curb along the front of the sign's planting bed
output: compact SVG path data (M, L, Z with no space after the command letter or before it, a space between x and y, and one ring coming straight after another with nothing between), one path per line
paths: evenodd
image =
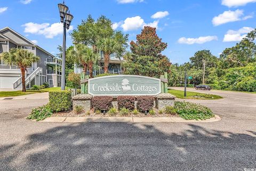
M205 123L217 122L221 118L215 115L213 118L203 121L186 120L181 117L48 117L40 122L62 122L62 123L77 123L77 122L187 122L187 123Z

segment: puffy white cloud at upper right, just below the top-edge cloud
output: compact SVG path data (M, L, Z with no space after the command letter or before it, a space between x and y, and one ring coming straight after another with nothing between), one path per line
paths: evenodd
M225 11L222 14L219 14L218 16L214 16L214 18L212 19L212 24L214 26L217 26L228 22L247 20L249 18L252 18L252 15L247 15L241 18L243 15L243 10Z

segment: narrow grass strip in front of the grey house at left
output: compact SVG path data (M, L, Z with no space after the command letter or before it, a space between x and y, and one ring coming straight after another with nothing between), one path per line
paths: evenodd
M49 91L60 91L60 87L51 87L42 90L27 90L26 92L20 91L0 91L0 97L11 97L11 96L22 96L34 93L49 92Z

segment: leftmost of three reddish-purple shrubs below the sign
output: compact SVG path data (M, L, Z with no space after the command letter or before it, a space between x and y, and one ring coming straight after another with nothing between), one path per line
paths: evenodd
M94 110L108 111L112 106L113 97L111 96L94 96L92 98L92 106Z

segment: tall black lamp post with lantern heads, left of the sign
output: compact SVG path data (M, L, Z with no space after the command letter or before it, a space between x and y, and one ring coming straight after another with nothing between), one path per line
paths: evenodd
M66 29L69 29L73 15L68 12L68 6L64 1L58 4L60 11L60 21L63 23L63 44L62 44L62 64L61 64L61 90L65 90L65 65L66 65Z

